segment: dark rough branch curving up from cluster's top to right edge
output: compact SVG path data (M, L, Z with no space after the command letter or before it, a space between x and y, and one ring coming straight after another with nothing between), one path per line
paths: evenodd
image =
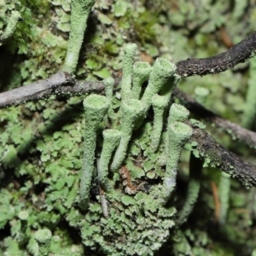
M239 44L234 45L228 51L204 59L187 59L176 63L176 73L183 78L195 75L207 75L220 73L235 67L238 63L247 61L256 50L256 32L250 34Z

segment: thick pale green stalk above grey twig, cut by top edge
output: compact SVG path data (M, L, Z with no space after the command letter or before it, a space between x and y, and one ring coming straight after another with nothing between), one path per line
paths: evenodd
M79 61L79 52L84 40L87 20L95 0L72 0L70 35L63 71L74 73Z

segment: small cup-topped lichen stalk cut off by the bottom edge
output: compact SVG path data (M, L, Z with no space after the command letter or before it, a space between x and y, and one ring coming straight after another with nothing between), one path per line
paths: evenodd
M47 256L51 241L50 230L38 230L35 233L35 240L38 242L38 256Z

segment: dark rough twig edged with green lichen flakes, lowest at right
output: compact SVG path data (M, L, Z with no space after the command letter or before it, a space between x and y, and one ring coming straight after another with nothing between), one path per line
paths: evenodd
M236 154L216 143L207 131L189 121L187 124L193 128L190 143L197 143L196 150L207 164L237 177L246 187L256 186L256 166L241 160Z

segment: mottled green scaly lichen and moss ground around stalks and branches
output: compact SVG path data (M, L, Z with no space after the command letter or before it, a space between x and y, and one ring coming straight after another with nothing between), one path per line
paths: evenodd
M3 9L4 3L9 4L8 9ZM151 64L157 56L176 62L188 57L215 55L227 49L221 37L221 26L235 44L255 30L255 7L253 1L239 0L189 3L185 0L98 0L89 16L76 75L87 80L104 79L110 74L121 77L123 46L128 43L138 45L137 61ZM70 1L2 0L2 32L13 10L20 12L22 22L18 22L0 48L1 90L46 79L61 69L67 51ZM179 86L192 96L197 87L207 88L209 94L204 105L224 118L241 123L247 106L247 79L253 79L253 74L247 72L248 63L239 65L235 71L183 79ZM118 94L113 97L114 110L119 108L118 97ZM145 255L153 251L172 255L175 242L177 255L255 254L256 191L244 189L231 179L229 210L225 224L218 225L211 183L218 184L220 172L212 167L203 171L201 194L189 221L177 234L169 236L169 230L174 231L174 214L183 206L185 198L188 153L181 156L176 201L167 209L155 209L154 195L160 191L165 171L155 164L159 154L150 149L152 111L146 123L135 132L125 159L132 183L138 186L145 181L144 190L137 195L125 194L126 185L119 173L115 173L112 179L117 187L108 197L112 207L111 218L107 219L102 215L97 182L93 179L90 211L79 212L79 171L85 129L83 100L84 96L52 97L1 110L0 254L36 255L38 247L33 234L45 228L53 234L52 255L101 255L102 251L107 255L117 251L117 255L126 255L135 250ZM219 143L255 163L254 151L233 142L216 127L207 127L207 130ZM165 139L166 131L162 142ZM97 157L101 143L102 137L99 137ZM196 148L196 145L189 147ZM208 162L211 160L206 160L205 166ZM155 187L150 195L148 183ZM148 195L147 200L144 194ZM19 240L20 211L29 212L26 239L22 242ZM144 221L145 217L148 222ZM143 231L134 231L140 229ZM163 241L167 242L161 247Z

